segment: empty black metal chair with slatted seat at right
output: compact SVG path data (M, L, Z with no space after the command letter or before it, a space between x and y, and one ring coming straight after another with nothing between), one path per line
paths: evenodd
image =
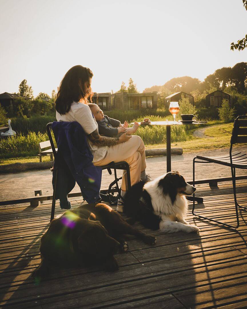
M247 154L243 152L233 152L232 153L232 146L236 143L247 143L247 116L238 116L234 120L233 129L232 129L232 137L231 137L231 146L229 155L222 155L219 157L203 157L197 155L193 159L193 185L195 186L195 163L217 163L225 166L231 167L232 172L232 185L233 185L233 194L234 194L234 201L235 201L235 210L236 210L236 218L237 218L237 226L233 226L231 224L226 224L218 220L213 220L208 217L201 216L195 213L195 201L193 201L193 209L192 214L203 218L208 219L210 221L223 224L225 226L237 229L239 227L239 216L238 216L238 207L247 210L247 207L240 206L237 202L236 196L236 168L247 169ZM199 159L200 161L198 161ZM195 194L194 194L195 195Z

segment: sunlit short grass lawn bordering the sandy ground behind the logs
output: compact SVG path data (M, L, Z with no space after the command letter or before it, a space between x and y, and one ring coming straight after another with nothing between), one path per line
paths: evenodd
M232 135L232 123L219 124L212 127L205 127L204 137L196 138L192 135L195 129L191 130L190 140L185 142L172 142L172 147L181 147L184 153L198 153L199 151L229 148ZM202 128L201 128L202 129ZM166 144L146 145L146 149L166 148ZM50 161L50 156L42 157L42 162ZM39 157L0 159L0 164L39 162Z

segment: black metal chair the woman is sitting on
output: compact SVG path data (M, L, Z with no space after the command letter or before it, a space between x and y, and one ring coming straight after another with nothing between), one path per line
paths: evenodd
M50 143L51 143L54 160L56 161L57 150L55 148L54 141L53 141L53 138L52 138L52 122L49 122L46 125L46 130L47 130L47 134L48 134L48 137L49 137L49 140L50 140ZM107 165L101 166L101 168L103 170L107 169L107 171L109 172L110 175L112 174L111 170L112 169L114 170L115 180L109 185L108 190L100 190L100 197L102 198L102 200L103 201L109 201L110 204L114 204L117 201L117 199L119 197L121 197L121 188L119 188L119 186L118 186L118 181L120 179L122 179L122 177L117 178L117 170L126 170L126 174L127 174L126 190L128 190L131 187L129 165L125 161L121 161L121 162L117 162L117 163L111 162ZM53 168L51 168L51 171L54 171ZM55 214L58 167L56 168L56 170L54 172L55 172L55 179L54 179L54 190L53 190L53 195L52 195L52 210L51 210L51 220L50 221L52 221L54 219L54 214ZM114 184L116 185L116 187L112 188L112 186ZM114 198L114 193L118 193L117 197L115 197L115 198Z

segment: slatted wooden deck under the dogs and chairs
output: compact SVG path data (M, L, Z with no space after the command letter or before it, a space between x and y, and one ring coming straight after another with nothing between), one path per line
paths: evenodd
M241 205L247 205L247 182L237 185ZM234 223L229 183L210 190L202 185L197 205L204 215ZM76 207L80 201L73 201ZM49 226L50 204L2 206L0 209L0 307L11 308L247 308L247 212L240 210L237 231L201 221L197 234L157 235L154 247L129 240L129 251L116 255L119 271L64 269L48 280L30 277L39 264L40 236ZM60 213L59 207L56 214ZM136 228L144 229L139 224Z

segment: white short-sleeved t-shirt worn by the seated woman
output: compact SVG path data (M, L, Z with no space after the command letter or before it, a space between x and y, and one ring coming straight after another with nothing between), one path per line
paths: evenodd
M98 124L92 115L90 107L84 103L73 102L69 112L60 115L56 112L57 121L77 121L82 126L86 134L91 134L96 129ZM87 139L91 152L94 156L93 162L98 162L106 156L108 146L96 146Z

